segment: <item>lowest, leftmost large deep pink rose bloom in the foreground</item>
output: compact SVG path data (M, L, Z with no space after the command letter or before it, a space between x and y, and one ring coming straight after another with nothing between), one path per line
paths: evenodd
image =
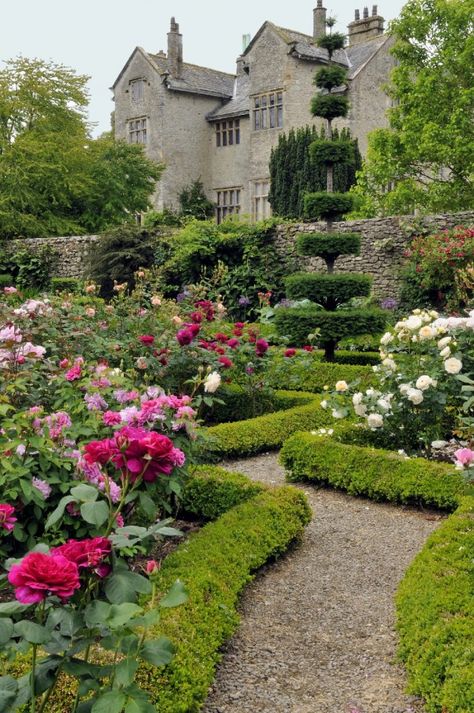
M79 572L74 562L61 555L30 552L13 565L8 581L15 587L15 597L22 604L37 604L48 595L63 601L79 589Z

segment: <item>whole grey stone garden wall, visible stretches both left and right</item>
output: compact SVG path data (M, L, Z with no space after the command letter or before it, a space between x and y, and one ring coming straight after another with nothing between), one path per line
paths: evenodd
M456 225L474 224L474 211L447 213L443 215L414 218L413 216L394 218L374 218L334 223L334 230L357 232L362 235L359 257L341 257L336 263L336 272L365 272L374 278L374 293L377 297L396 297L399 285L399 270L403 253L413 236L453 228ZM295 238L297 233L310 233L325 229L324 223L291 223L277 228L276 247L283 256L296 258ZM68 238L44 238L14 240L12 250L27 248L35 250L49 245L59 255L57 277L83 277L89 264L89 255L97 235L83 235ZM304 270L325 270L320 258L296 258Z

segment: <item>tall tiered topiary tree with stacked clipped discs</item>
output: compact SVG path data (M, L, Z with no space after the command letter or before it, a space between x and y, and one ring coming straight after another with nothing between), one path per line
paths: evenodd
M331 28L333 21L328 21ZM370 295L372 279L361 274L334 274L334 264L340 255L359 255L360 235L332 231L335 220L341 220L352 209L352 197L334 191L335 167L351 166L354 162L353 143L347 135L336 133L332 122L345 117L349 102L341 93L347 83L347 72L333 62L333 55L344 47L344 35L325 35L318 45L327 50L329 64L320 69L314 83L320 92L311 102L313 116L325 120L325 132L310 145L313 161L326 167L326 190L307 193L304 198L305 217L310 220L325 220L327 232L308 233L298 236L297 253L302 257L320 257L327 273L300 272L290 275L285 281L287 296L291 300L309 300L310 305L282 308L276 315L279 331L290 337L292 343L302 344L308 334L319 330L324 346L325 359L334 361L337 344L343 337L356 334L371 334L382 331L385 316L381 310L350 309L345 307L354 297Z

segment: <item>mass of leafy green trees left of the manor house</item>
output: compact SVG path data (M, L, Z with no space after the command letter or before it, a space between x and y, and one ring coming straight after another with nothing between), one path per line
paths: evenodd
M97 232L147 208L162 167L91 138L87 81L22 57L0 71L0 238Z

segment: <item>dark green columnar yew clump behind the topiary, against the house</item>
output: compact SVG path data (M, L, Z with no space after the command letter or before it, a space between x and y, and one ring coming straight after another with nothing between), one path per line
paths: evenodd
M324 129L319 132L315 126L291 129L281 134L278 146L272 149L270 158L271 188L269 201L273 213L282 218L302 218L305 193L322 191L326 188L326 165L314 159L310 146L319 138L324 138ZM350 165L338 164L334 171L336 191L345 193L356 180L356 171L362 167L362 159L357 139L351 139L348 129L334 130L334 138L351 142L354 160Z

